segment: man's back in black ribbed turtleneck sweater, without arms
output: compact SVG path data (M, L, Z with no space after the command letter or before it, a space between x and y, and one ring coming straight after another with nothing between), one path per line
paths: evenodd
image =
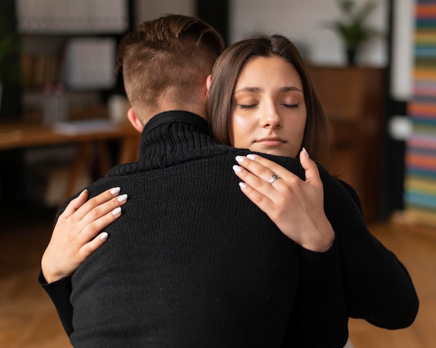
M138 162L88 190L116 185L130 200L72 276L75 347L281 344L298 248L238 189L240 153L198 116L172 111L146 125Z

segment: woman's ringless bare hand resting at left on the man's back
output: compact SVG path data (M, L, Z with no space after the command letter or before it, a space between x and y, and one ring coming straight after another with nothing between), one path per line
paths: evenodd
M71 276L79 265L107 239L100 231L121 215L127 195L120 188L107 190L86 202L84 190L72 200L54 226L52 238L42 255L41 269L47 283Z

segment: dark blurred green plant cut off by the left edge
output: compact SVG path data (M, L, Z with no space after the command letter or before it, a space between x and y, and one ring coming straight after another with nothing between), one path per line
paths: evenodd
M0 108L3 83L20 80L20 69L17 64L17 55L20 54L20 51L20 36L8 31L4 19L0 15Z

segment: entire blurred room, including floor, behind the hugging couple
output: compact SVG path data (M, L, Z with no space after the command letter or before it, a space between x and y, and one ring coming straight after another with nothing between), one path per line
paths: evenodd
M428 279L436 267L436 0L1 0L0 342L65 344L54 308L35 284L40 255L63 200L137 158L139 134L125 122L129 104L114 73L116 46L139 23L167 13L204 19L227 45L255 33L295 42L332 122L334 149L325 166L355 187L364 218L411 267L435 309L436 284ZM41 226L33 223L41 216ZM425 228L412 242L402 239L416 235L411 226ZM18 244L29 247L25 256L15 253ZM23 269L24 278L10 277ZM8 301L26 303L11 299L26 281L37 289L24 297L31 306L35 298L44 303L59 342L46 339L45 319L34 310L17 324L17 307L2 309ZM406 331L413 342L403 345L408 336L399 336L403 342L377 344L428 347L420 335L436 319L426 308L423 326ZM20 341L28 345L18 345L29 317L39 324ZM367 330L352 326L356 347L380 347L359 345ZM37 338L45 343L33 345Z

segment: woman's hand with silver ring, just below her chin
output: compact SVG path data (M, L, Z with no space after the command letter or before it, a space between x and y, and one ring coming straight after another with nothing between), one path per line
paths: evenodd
M324 212L324 191L316 163L306 150L299 154L306 181L279 164L260 157L236 157L235 174L242 192L265 212L284 235L304 248L325 251L334 232ZM243 168L242 168L243 167ZM273 175L279 178L273 179Z

